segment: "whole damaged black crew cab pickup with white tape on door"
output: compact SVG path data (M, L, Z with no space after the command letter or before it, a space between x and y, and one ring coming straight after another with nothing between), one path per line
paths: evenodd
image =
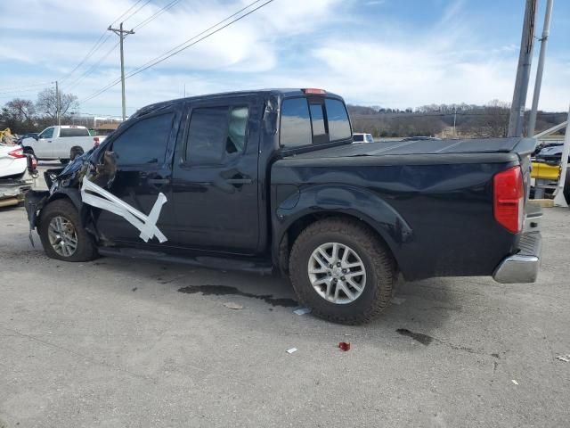
M386 308L398 273L536 279L532 139L352 136L342 98L320 89L153 104L28 193L30 227L53 259L281 272L344 324Z

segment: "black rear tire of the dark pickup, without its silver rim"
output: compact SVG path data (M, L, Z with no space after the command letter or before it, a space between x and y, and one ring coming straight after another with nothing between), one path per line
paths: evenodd
M309 279L309 259L320 245L341 243L362 259L366 281L354 301L338 304L315 291ZM307 226L297 237L289 257L289 277L298 300L314 315L334 323L359 325L378 317L392 297L395 261L370 227L354 220L326 218Z

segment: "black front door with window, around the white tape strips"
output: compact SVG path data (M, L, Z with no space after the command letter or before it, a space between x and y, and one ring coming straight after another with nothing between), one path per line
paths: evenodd
M157 237L145 240L134 226L133 218L122 217L112 210L100 210L96 225L103 238L113 242L168 246L175 233L174 202L172 201L172 151L182 115L181 111L169 108L137 119L118 136L113 137L106 150L114 152L117 169L106 190L135 210L149 216L159 199L166 196L159 208L156 223L167 239L159 243ZM100 184L100 186L103 186ZM162 197L161 197L162 198Z

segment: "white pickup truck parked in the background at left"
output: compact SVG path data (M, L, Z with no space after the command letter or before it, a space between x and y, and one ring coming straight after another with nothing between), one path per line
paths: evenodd
M104 136L91 136L85 127L62 125L45 128L37 138L25 138L21 145L24 152L35 154L41 161L59 160L67 163L102 143L104 139Z

